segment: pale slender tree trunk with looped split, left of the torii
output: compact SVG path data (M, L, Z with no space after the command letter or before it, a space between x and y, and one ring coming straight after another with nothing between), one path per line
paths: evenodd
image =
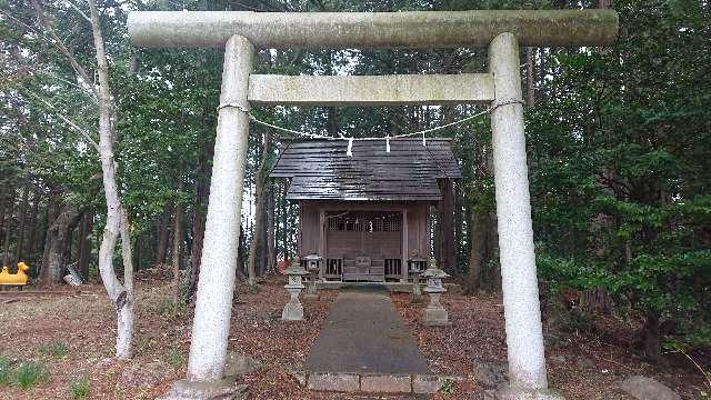
M113 303L118 319L116 339L116 356L129 359L133 354L133 264L131 258L131 241L129 222L119 198L116 159L113 157L113 140L116 127L114 103L109 88L109 66L103 48L101 21L94 0L89 0L91 12L91 31L97 50L97 72L99 76L99 156L103 177L103 191L107 200L107 220L103 228L103 239L99 247L99 272L103 287ZM118 280L113 269L113 250L119 234L121 236L121 253L123 259L123 281Z

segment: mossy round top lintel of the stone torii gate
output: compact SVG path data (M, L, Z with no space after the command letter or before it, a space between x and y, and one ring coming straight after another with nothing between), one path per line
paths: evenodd
M613 10L405 12L133 11L131 41L147 48L223 48L234 34L260 48L487 47L503 32L520 46L608 46Z

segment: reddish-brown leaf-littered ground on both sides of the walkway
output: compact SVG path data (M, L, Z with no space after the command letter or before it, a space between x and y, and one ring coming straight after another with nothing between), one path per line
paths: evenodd
M116 317L101 286L63 293L0 293L3 336L0 356L10 359L13 366L36 360L49 372L48 380L29 390L0 386L0 399L72 399L71 382L84 373L89 377L88 399L153 399L184 377L192 316L187 310L177 314L172 311L167 272L143 272L139 278L136 357L130 362L111 359ZM266 364L243 378L249 398L395 399L316 393L299 387L288 370L303 363L337 292L321 291L319 302L304 303L306 321L286 323L280 320L288 300L283 284L283 277L271 277L261 282L257 293L247 292L243 286L239 288L229 349ZM455 383L452 392L437 393L433 398L479 399L484 388L472 377L472 361L505 360L501 299L493 294L447 293L443 303L453 322L448 328L422 327L418 319L424 304L410 304L408 294L392 294L392 299L419 341L430 369L467 377ZM598 318L595 334L582 334L560 332L548 320L544 329L550 386L568 399L631 399L617 387L633 374L654 378L684 399L699 398L703 389L703 377L685 359L669 354L660 367L635 354L630 346L637 328L633 324L612 317ZM66 353L47 351L56 343L66 344ZM153 370L130 373L144 366L153 366Z

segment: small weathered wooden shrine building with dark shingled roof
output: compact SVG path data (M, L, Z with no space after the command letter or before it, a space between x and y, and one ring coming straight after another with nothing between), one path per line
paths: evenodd
M408 281L427 269L431 211L461 178L449 139L299 140L272 178L300 204L299 256L319 278Z

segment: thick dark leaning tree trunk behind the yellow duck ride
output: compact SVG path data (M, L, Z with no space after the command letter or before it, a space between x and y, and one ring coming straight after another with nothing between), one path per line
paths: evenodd
M40 270L40 286L51 287L62 282L66 267L66 250L72 227L81 218L82 210L74 204L66 204L47 229L44 239L46 261Z

